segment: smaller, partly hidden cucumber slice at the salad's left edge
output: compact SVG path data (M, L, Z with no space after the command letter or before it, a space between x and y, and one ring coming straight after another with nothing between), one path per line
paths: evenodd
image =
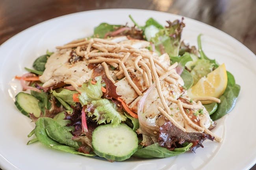
M41 113L38 100L28 93L18 93L15 97L14 104L17 109L26 116L29 116L29 113L33 113L35 117L39 117Z

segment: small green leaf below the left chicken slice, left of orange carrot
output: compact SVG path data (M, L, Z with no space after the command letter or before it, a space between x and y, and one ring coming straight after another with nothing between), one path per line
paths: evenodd
M57 90L52 90L52 94L55 97L61 98L63 101L67 102L72 106L76 106L76 102L73 101L73 94L77 93L76 91L71 91L63 88Z

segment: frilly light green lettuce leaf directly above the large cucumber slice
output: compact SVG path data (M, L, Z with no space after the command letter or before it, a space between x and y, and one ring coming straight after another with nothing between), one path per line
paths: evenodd
M111 124L117 126L126 120L126 116L117 112L116 105L108 99L92 101L91 104L93 104L94 110L93 113L89 112L88 116L92 117L94 115L95 118L93 120L97 121L98 124L111 122Z

